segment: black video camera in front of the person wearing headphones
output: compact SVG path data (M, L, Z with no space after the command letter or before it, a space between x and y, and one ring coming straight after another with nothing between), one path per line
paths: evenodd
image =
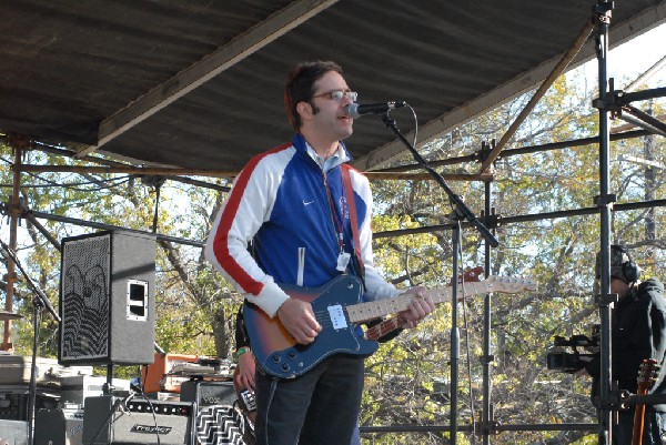
M589 337L583 334L572 335L568 338L556 335L553 341L553 350L546 355L548 370L569 374L583 370L585 364L598 354L599 337L601 326L598 324L592 327ZM568 352L567 348L571 348L572 352ZM578 348L587 350L588 353L581 353Z

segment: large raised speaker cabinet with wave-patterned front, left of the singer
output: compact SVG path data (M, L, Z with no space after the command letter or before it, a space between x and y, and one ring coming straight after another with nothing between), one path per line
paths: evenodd
M113 231L62 240L61 364L153 361L155 239Z

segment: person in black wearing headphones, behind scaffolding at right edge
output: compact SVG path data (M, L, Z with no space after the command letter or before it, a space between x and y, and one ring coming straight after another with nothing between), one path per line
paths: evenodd
M596 275L601 277L601 255L597 255ZM640 281L640 267L624 246L610 245L610 293L617 294L612 317L612 370L619 391L636 394L638 372L645 360L653 358L658 366L656 381L647 394L666 394L666 300L664 284L657 279ZM593 377L593 398L598 392L601 357L585 365ZM613 444L632 443L634 407L619 411L613 426ZM646 406L644 445L662 444L666 438L666 404Z

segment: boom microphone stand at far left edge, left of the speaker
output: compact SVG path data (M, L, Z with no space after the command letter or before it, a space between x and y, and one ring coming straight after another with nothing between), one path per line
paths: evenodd
M37 401L37 353L39 350L39 321L41 320L41 312L44 307L49 310L51 316L58 323L60 323L60 316L51 305L49 297L37 284L34 284L30 275L28 275L28 273L21 265L21 262L19 261L19 257L17 256L16 252L13 252L7 244L4 244L2 240L0 240L0 245L11 257L11 261L13 261L17 267L21 271L21 274L26 279L26 282L34 292L34 297L32 299L32 364L30 366L30 385L28 386L28 444L32 445L34 441L34 405Z

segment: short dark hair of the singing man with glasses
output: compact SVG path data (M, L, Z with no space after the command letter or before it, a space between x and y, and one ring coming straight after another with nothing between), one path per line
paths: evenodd
M284 110L295 131L301 129L301 117L296 105L299 102L307 102L312 99L314 82L330 71L342 75L342 68L331 61L302 62L291 69L284 85Z

